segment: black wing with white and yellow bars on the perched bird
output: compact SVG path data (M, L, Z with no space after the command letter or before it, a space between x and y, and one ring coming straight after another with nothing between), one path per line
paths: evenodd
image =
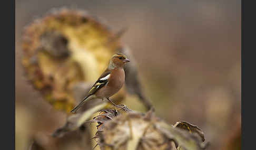
M104 87L104 85L107 84L107 82L109 81L109 78L111 76L111 71L105 71L101 77L93 84L92 88L90 89L90 91L88 92L89 95L94 94L95 92L97 92L99 89L101 89L102 87Z

